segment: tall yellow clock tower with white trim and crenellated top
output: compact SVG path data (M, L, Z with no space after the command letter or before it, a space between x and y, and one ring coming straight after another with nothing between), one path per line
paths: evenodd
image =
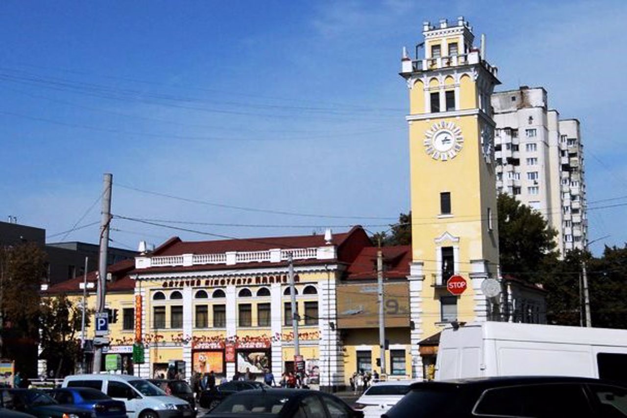
M473 46L463 17L425 22L423 35L416 53L422 46L424 58L404 50L401 71L409 90L414 377L423 374L420 340L450 322L490 318L482 285L498 276L490 107L497 69L485 59L483 36L481 48ZM461 295L446 287L453 275L466 281Z

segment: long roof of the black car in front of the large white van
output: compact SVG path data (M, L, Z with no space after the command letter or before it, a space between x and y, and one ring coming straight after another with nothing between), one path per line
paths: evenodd
M574 376L499 376L499 377L472 377L467 379L451 379L451 380L430 380L428 382L416 382L411 385L411 389L420 389L424 387L446 387L446 386L464 386L464 387L499 387L517 384L551 384L551 383L604 383L615 384L607 380L593 379L591 377L574 377Z

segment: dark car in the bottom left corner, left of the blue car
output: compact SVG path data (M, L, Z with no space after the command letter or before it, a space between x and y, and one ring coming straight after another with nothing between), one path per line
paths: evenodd
M36 389L2 389L0 406L26 412L38 418L92 418L92 412L72 405L60 405L56 400Z

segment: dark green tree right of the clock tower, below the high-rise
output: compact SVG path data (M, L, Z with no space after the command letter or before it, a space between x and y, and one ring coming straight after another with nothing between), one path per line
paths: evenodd
M502 274L542 282L557 263L557 232L539 212L512 196L500 193L497 205Z

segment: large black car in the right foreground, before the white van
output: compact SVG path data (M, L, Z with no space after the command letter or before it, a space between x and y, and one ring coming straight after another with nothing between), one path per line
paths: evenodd
M584 377L420 382L382 418L625 418L627 387Z

